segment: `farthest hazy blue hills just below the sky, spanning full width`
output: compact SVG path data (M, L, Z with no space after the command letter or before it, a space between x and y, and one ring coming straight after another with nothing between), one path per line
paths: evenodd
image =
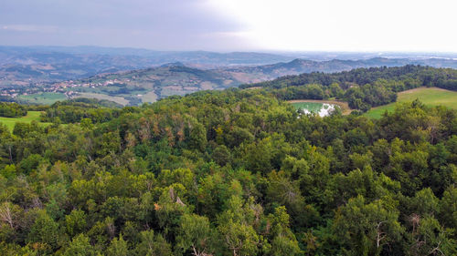
M389 56L389 59L377 56ZM166 52L98 46L0 46L0 87L36 86L37 84L80 79L104 73L159 67L174 62L181 62L187 67L200 69L227 67L237 69L241 67L241 70L235 70L235 72L261 73L258 76L265 79L297 74L297 72L335 72L352 67L379 65L390 67L392 65L420 64L432 67L456 67L455 57L457 56L452 54L425 53L385 53L380 55L379 53L282 52L271 54L207 51ZM289 63L296 58L309 59L309 61L296 60ZM335 59L342 61L338 62ZM354 62L351 63L351 60ZM362 63L360 63L361 60L363 60ZM324 62L317 64L315 61ZM253 68L246 69L247 66Z

